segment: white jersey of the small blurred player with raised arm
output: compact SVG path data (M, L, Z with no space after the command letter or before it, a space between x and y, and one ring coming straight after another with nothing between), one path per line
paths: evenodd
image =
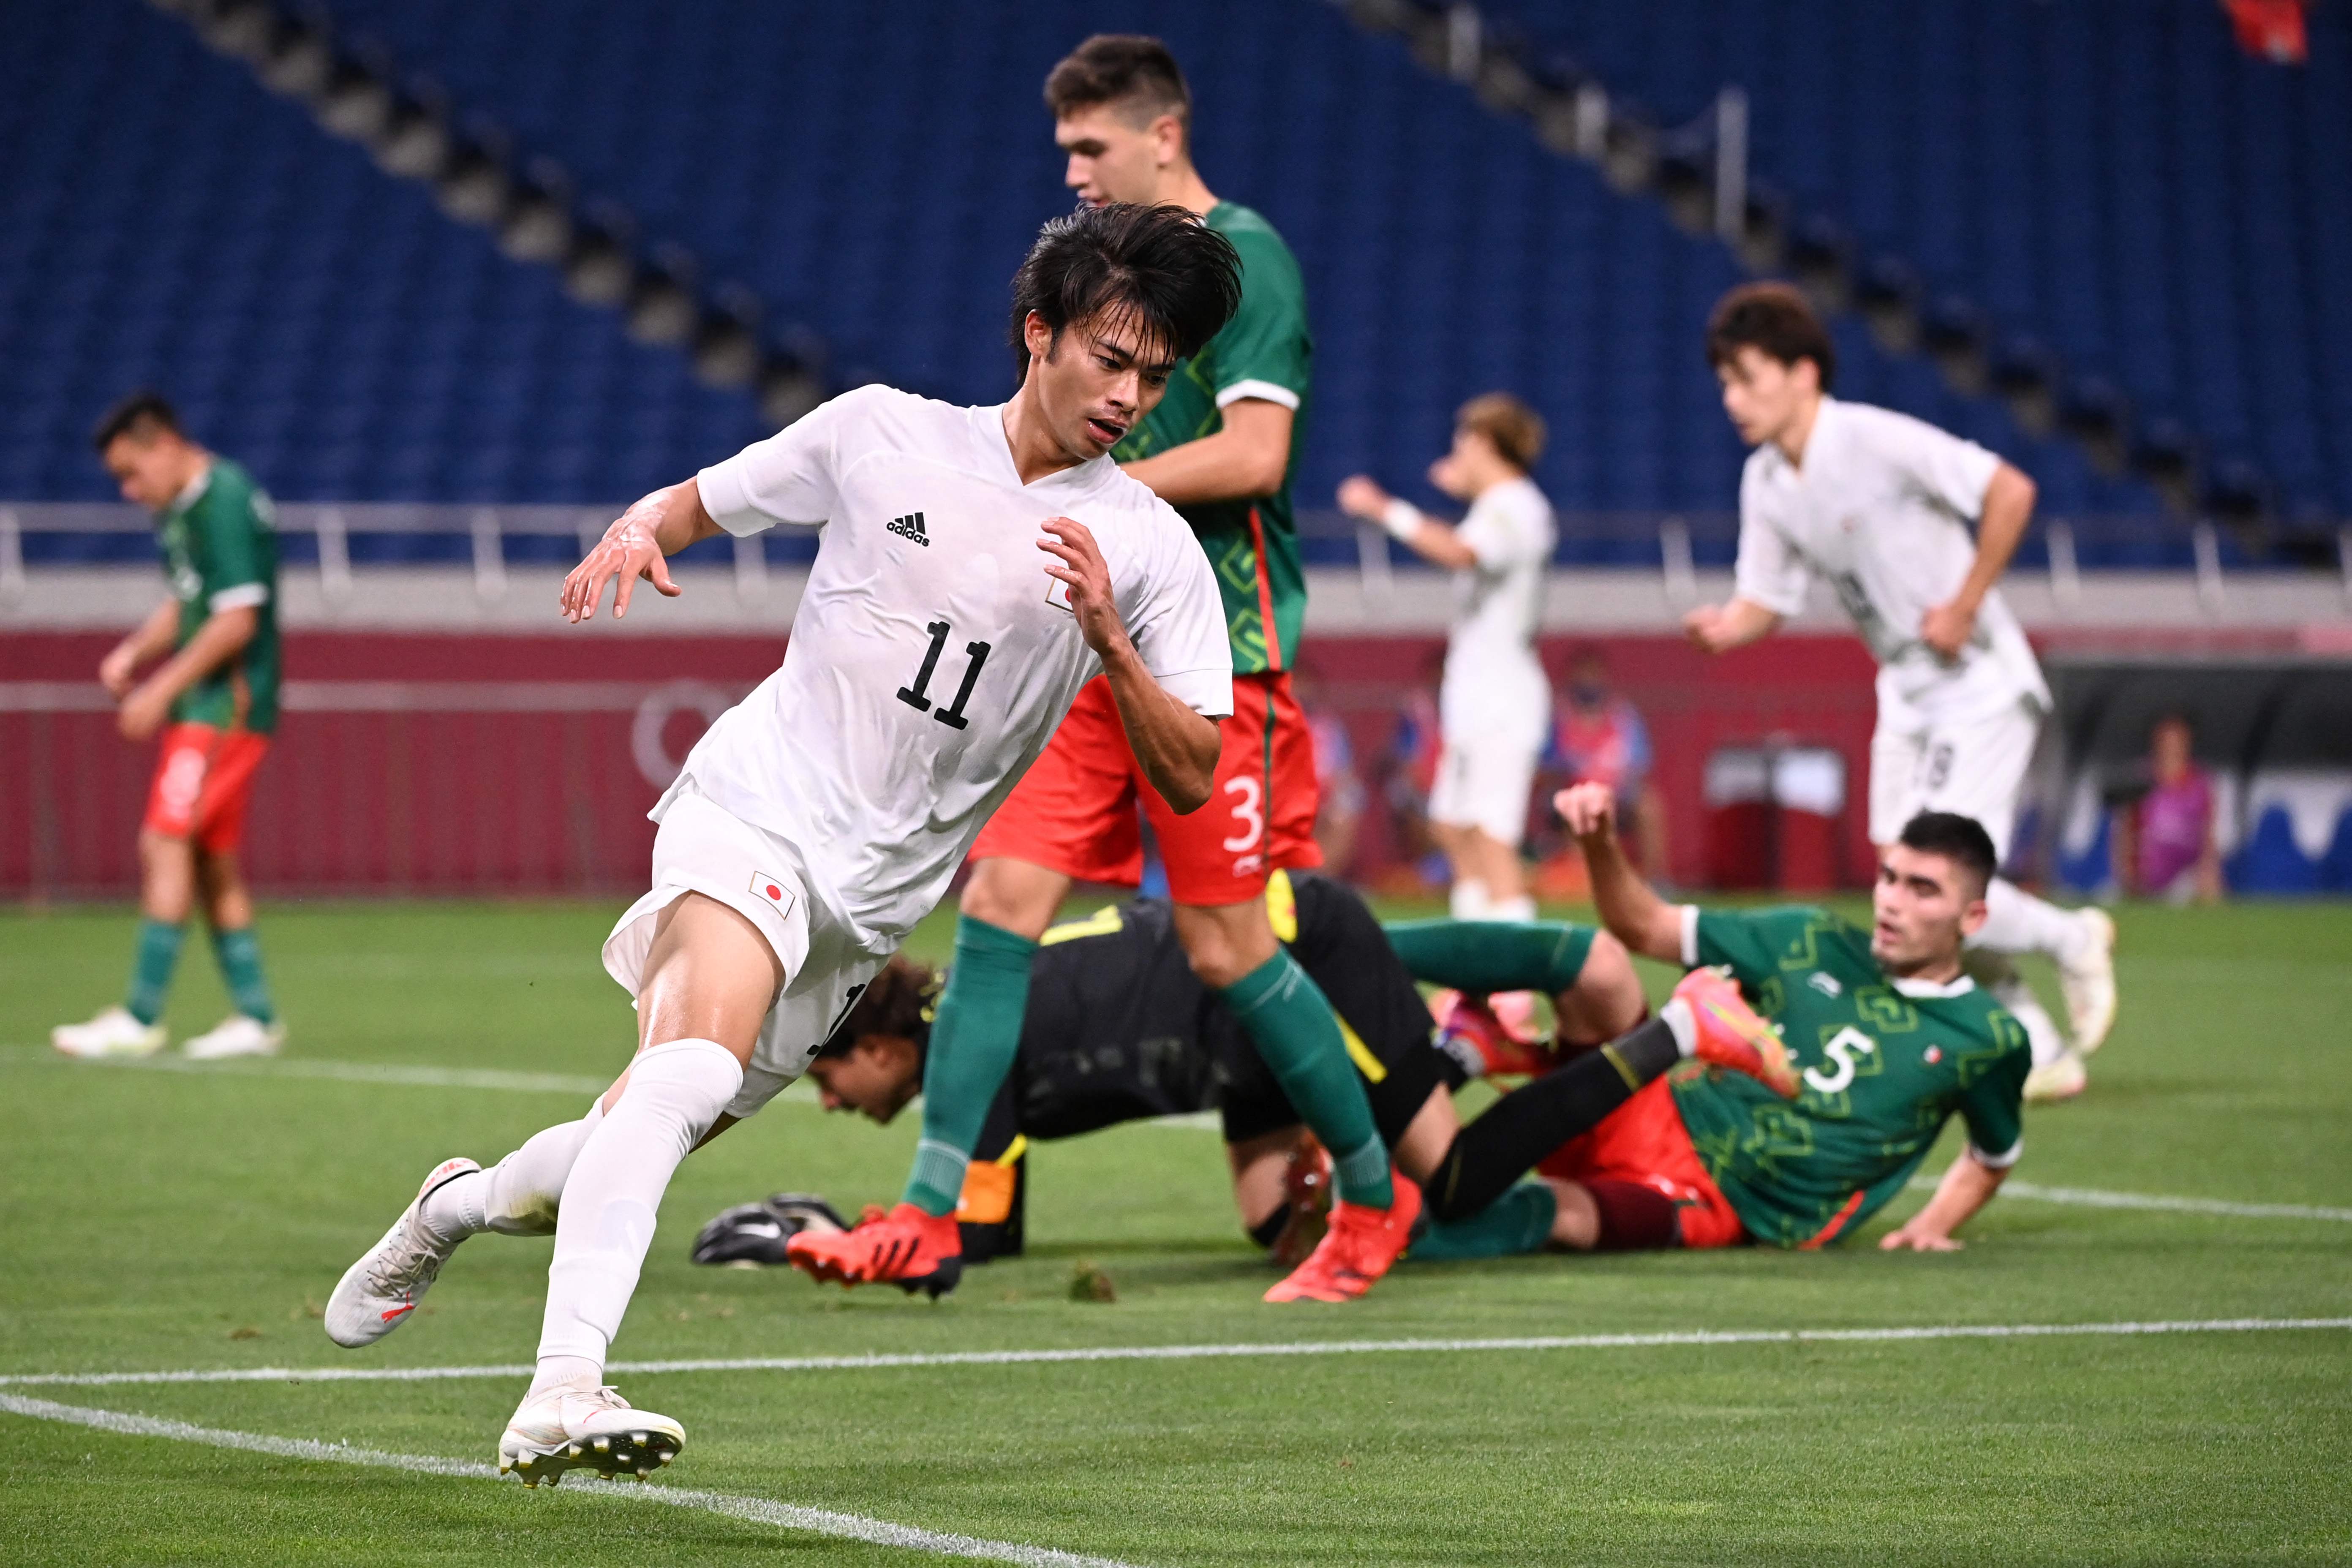
M1470 503L1456 536L1477 555L1454 574L1454 628L1437 691L1449 738L1548 722L1552 686L1536 658L1543 569L1552 559L1552 503L1534 480L1494 484Z

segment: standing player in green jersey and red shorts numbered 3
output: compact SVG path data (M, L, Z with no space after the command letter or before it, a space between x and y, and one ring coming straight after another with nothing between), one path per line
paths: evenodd
M981 832L901 1208L931 1220L920 1225L924 1232L955 1211L981 1121L1021 1041L1037 938L1075 879L1141 882L1141 804L1192 971L1235 1011L1338 1159L1331 1232L1268 1300L1362 1295L1404 1248L1421 1197L1390 1178L1338 1018L1275 940L1263 900L1268 872L1319 863L1315 750L1284 675L1305 614L1289 494L1312 355L1298 263L1265 219L1202 183L1190 153L1192 96L1160 40L1089 38L1047 75L1044 101L1082 205L1171 202L1242 256L1232 322L1176 371L1160 407L1117 447L1127 473L1176 505L1209 555L1232 649L1232 717L1209 806L1178 816L1138 773L1096 682ZM913 1229L894 1227L795 1237L795 1248L807 1241L795 1260L826 1279L898 1279ZM955 1227L938 1234L953 1241Z

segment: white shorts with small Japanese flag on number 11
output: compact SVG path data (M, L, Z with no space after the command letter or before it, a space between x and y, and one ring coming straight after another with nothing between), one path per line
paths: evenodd
M760 929L783 964L783 994L760 1027L743 1088L727 1114L743 1119L809 1070L816 1048L884 959L858 950L830 910L809 896L800 853L691 790L661 806L654 835L654 891L628 907L604 938L604 973L635 997L656 917L684 893L715 898Z

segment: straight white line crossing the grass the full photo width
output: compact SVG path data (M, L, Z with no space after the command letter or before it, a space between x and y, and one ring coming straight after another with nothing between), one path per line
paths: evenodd
M1508 1340L1291 1340L1265 1345L1096 1345L1082 1349L957 1349L877 1356L731 1356L708 1361L614 1361L614 1375L654 1373L856 1373L896 1366L1061 1366L1070 1361L1216 1361L1237 1356L1367 1356L1479 1349L1653 1349L1672 1345L1872 1345L1896 1340L2051 1340L2157 1333L2281 1333L2352 1328L2352 1316L2225 1316L2152 1324L1922 1324L1912 1328L1686 1328L1677 1333L1571 1333ZM16 1373L7 1387L113 1387L160 1382L440 1382L529 1378L510 1366L238 1366L179 1373ZM5 1399L5 1394L0 1394Z

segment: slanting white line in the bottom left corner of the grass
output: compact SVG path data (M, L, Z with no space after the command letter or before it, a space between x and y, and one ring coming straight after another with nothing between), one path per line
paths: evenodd
M348 1443L318 1443L299 1436L268 1436L261 1432L223 1432L219 1427L191 1427L179 1420L153 1415L129 1415L122 1410L89 1410L85 1406L61 1406L47 1399L21 1399L0 1394L0 1410L33 1420L68 1422L118 1432L122 1436L162 1436L176 1443L205 1443L207 1448L245 1448L247 1453L270 1453L285 1460L320 1460L327 1465L367 1465L372 1469L407 1469L426 1476L459 1476L466 1481L499 1481L489 1465L445 1460L428 1453L383 1453L381 1448L350 1448ZM795 1507L767 1497L741 1497L736 1493L699 1493L682 1486L614 1483L595 1479L567 1481L562 1490L586 1490L595 1497L623 1497L637 1502L666 1502L668 1507L701 1509L771 1523L786 1530L811 1530L840 1540L863 1540L877 1547L903 1547L908 1552L936 1552L941 1556L974 1556L995 1563L1023 1563L1028 1568L1129 1568L1108 1556L1077 1556L1051 1547L1025 1547L1009 1540L981 1540L976 1535L948 1535L941 1530L917 1530L915 1526L868 1519L866 1514L837 1514L833 1509Z

